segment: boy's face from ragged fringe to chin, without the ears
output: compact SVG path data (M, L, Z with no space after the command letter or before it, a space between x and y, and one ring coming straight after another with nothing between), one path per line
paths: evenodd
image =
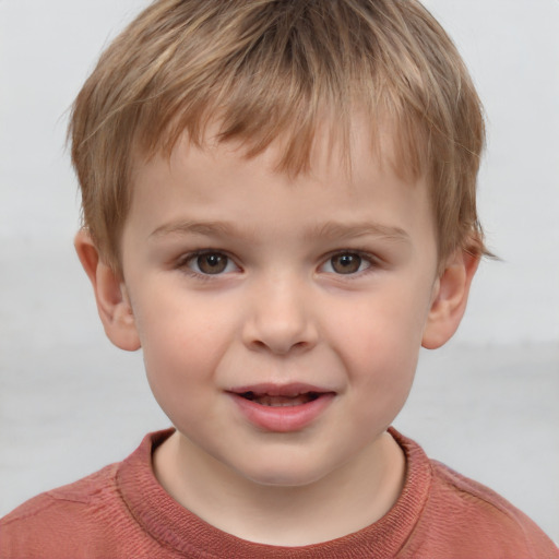
M309 484L372 449L409 392L440 292L427 186L360 136L350 178L322 157L290 180L277 147L235 147L185 141L135 169L127 328L189 452Z

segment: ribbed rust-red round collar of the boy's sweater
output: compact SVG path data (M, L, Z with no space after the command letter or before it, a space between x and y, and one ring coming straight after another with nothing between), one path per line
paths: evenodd
M121 463L119 490L143 530L166 547L189 558L242 559L390 559L396 557L417 523L431 484L430 463L412 440L391 428L390 433L406 456L406 478L394 507L378 522L359 532L322 544L278 547L254 544L222 532L175 501L159 485L152 467L152 453L174 429L147 435Z

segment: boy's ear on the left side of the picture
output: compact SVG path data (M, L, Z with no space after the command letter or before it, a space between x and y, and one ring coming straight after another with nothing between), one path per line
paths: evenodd
M103 262L97 247L85 229L78 231L74 247L93 285L105 333L117 347L135 352L141 346L140 337L121 275Z

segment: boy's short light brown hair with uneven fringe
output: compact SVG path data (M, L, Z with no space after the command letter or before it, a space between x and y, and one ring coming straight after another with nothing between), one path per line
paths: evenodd
M416 0L157 0L102 55L69 135L83 223L119 269L132 156L197 144L218 119L247 155L283 138L278 166L309 165L324 108L347 139L354 108L395 130L396 164L431 186L439 259L485 251L476 181L479 98L447 33ZM344 145L347 145L346 143Z

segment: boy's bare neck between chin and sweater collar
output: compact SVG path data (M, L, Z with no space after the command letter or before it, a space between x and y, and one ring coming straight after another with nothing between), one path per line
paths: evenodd
M381 519L402 491L405 457L394 439L383 433L318 481L271 486L201 454L176 432L155 451L154 469L165 490L209 524L249 542L305 546Z

